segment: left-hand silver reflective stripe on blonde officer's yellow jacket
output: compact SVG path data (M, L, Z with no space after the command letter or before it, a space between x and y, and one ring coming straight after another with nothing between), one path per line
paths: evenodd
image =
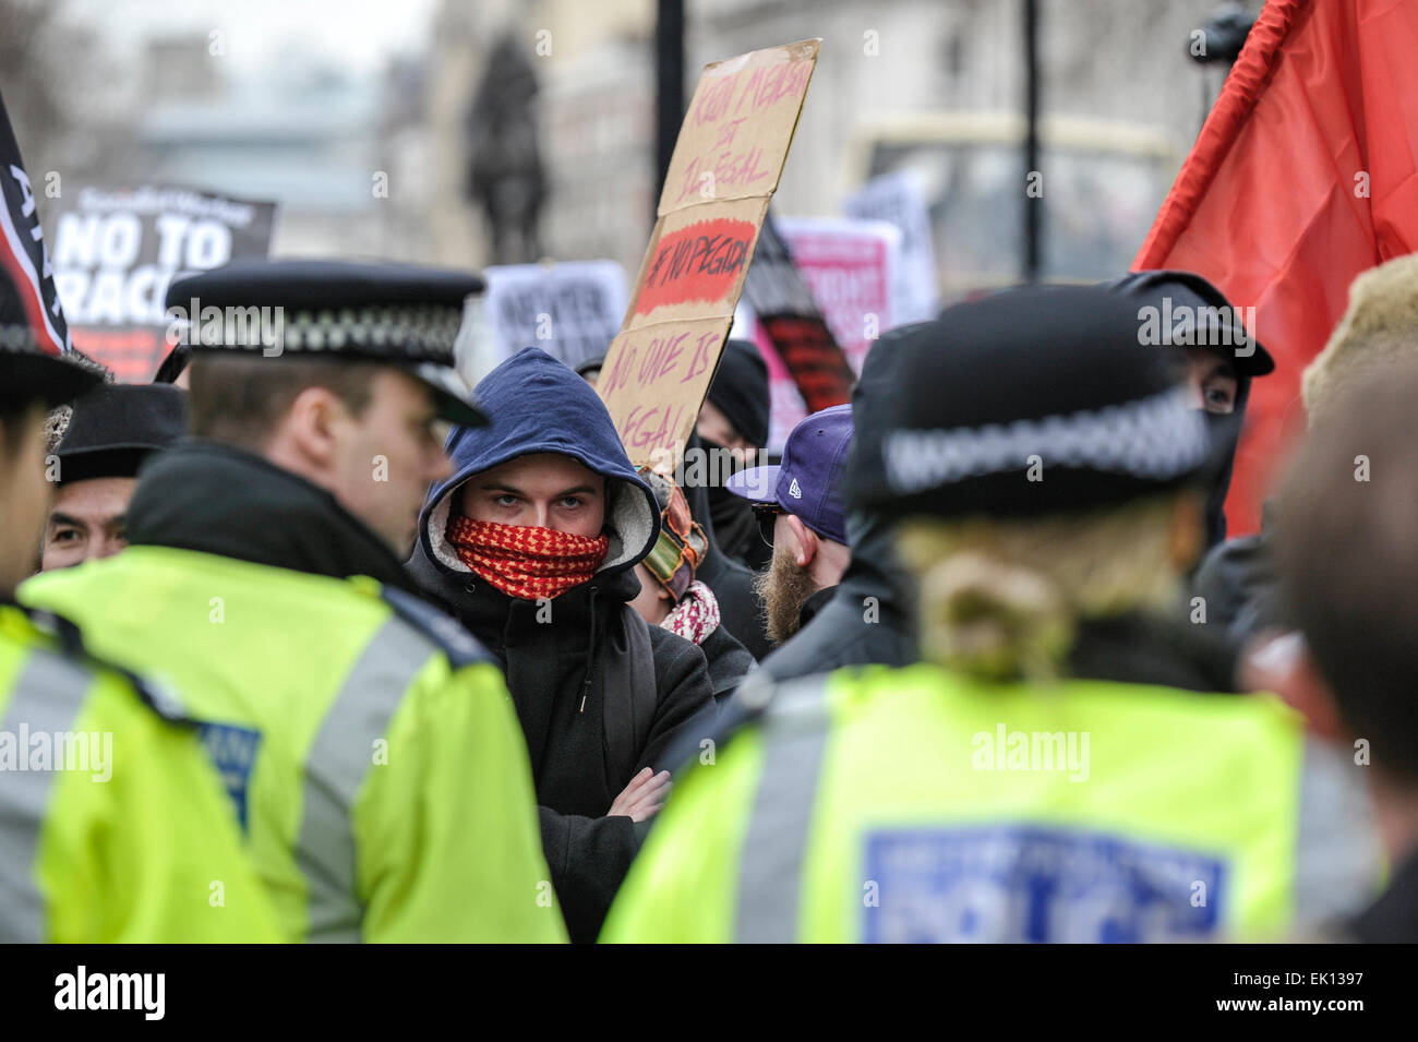
M803 855L830 730L824 685L825 678L784 683L763 717L763 774L739 859L740 944L798 937Z

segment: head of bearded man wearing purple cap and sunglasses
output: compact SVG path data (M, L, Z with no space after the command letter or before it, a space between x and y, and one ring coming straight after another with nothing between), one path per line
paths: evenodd
M729 491L753 503L764 542L773 546L754 591L776 644L813 620L847 568L841 482L851 445L852 407L825 408L793 428L781 466L756 466L729 479Z

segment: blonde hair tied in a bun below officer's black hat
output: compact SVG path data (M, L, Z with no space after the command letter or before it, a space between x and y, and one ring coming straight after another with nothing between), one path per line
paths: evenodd
M991 680L1058 678L1081 620L1176 598L1176 512L1173 495L1039 519L905 522L923 658Z

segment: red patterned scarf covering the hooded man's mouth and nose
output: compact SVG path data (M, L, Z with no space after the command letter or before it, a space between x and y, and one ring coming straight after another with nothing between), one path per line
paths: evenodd
M553 529L448 519L448 544L458 560L508 597L559 597L596 574L611 540Z

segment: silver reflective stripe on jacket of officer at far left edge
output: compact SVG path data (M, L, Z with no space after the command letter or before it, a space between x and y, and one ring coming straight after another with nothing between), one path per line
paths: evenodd
M34 651L14 685L0 732L55 734L74 727L94 673L48 651ZM24 754L24 750L18 750ZM62 767L62 764L60 764ZM35 882L40 828L57 770L0 771L0 941L44 941L44 895Z

